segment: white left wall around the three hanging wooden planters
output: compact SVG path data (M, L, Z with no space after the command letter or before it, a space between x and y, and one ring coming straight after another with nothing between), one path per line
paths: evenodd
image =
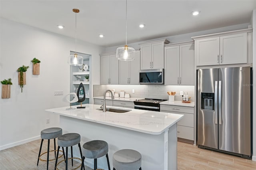
M34 140L44 128L59 125L59 117L45 109L68 106L54 91L70 91L67 58L75 50L75 40L0 19L0 80L12 79L11 98L0 99L0 150ZM78 41L77 51L92 55L90 81L100 83L100 57L105 48ZM32 75L31 59L40 59L40 75ZM29 65L21 93L18 67ZM92 89L91 89L92 90ZM2 93L2 92L1 92ZM92 91L90 92L91 95ZM50 124L46 124L50 118Z

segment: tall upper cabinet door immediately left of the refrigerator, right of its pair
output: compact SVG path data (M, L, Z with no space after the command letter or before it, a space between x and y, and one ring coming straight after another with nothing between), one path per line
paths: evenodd
M195 85L194 43L180 45L180 85Z

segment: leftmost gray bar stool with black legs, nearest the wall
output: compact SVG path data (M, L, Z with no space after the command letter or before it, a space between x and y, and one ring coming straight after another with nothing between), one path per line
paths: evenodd
M58 128L58 127L46 128L46 129L41 131L42 140L41 140L40 150L39 150L38 159L37 159L37 166L38 166L39 159L42 160L42 161L47 161L47 170L48 170L49 161L55 160L55 159L49 160L49 152L54 151L54 156L56 158L56 141L55 141L55 138L58 138L60 135L62 135L62 128ZM43 145L44 139L48 139L47 152L43 153L43 154L47 153L47 160L43 160L43 159L40 158L43 155L43 154L41 154L41 150L42 150L42 145ZM51 151L49 151L50 150L50 139L54 139L54 150L51 150ZM63 147L62 147L62 150L64 151ZM64 154L62 154L62 155L64 155ZM65 158L65 155L64 155L64 158Z

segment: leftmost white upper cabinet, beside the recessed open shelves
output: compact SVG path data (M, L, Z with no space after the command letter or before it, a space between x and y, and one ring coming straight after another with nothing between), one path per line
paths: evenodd
M116 54L102 54L100 56L100 83L118 84L119 62Z

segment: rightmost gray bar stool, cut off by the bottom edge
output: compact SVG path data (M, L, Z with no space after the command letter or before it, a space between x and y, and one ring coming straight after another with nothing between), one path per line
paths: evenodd
M113 154L113 170L141 170L141 154L132 149L118 150Z

